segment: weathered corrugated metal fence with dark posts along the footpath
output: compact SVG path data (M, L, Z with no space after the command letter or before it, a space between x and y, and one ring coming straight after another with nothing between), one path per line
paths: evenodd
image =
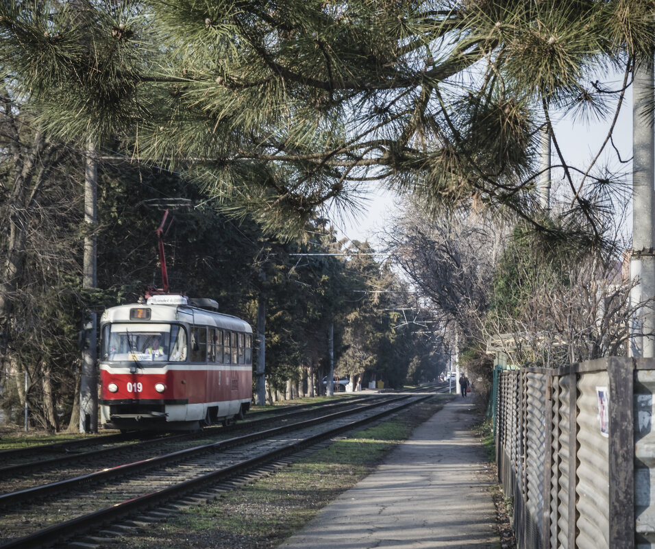
M496 457L519 549L655 549L654 389L653 359L500 372Z

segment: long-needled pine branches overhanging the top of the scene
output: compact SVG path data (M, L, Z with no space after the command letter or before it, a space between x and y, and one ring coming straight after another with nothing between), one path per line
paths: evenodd
M574 236L600 241L586 188L619 180L569 166L552 113L611 118L655 40L652 0L78 3L0 8L0 63L49 126L127 132L287 234L371 178L559 234L532 194L545 128L586 220Z

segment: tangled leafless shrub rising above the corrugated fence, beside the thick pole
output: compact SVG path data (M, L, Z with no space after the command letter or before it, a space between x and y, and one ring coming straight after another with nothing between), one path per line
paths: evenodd
M480 324L510 363L554 367L626 356L634 280L619 258L591 257L564 265L564 276L542 278L519 306L496 308ZM522 269L523 276L528 272Z

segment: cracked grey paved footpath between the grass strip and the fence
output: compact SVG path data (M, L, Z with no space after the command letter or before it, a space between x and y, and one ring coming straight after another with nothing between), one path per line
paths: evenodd
M278 549L497 549L487 461L458 396Z

